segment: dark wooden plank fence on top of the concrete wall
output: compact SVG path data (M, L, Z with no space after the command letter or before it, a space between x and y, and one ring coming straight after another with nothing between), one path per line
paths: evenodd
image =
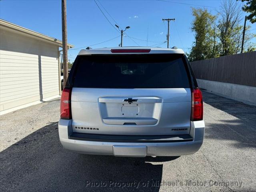
M256 51L190 63L196 78L256 86Z

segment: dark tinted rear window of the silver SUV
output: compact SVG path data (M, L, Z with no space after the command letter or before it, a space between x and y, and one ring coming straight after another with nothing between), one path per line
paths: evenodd
M189 88L181 54L78 56L74 87Z

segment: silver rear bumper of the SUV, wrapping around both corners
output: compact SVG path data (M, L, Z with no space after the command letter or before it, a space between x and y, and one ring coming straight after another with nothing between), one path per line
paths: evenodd
M177 142L106 142L71 139L72 120L60 119L58 124L62 146L84 154L114 156L181 156L197 152L204 139L204 121L191 122L192 141Z

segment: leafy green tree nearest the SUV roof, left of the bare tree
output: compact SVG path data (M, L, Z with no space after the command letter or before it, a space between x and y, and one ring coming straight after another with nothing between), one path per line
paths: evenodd
M209 41L210 33L212 33L212 22L215 17L212 16L206 9L192 8L192 21L191 30L195 32L195 41L193 42L192 50L188 56L190 61L203 60L210 58L212 53L212 45L214 43Z

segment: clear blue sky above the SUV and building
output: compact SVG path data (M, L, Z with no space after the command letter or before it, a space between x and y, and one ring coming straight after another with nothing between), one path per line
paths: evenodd
M162 18L175 18L170 22L170 47L177 46L189 52L194 41L190 26L192 22L191 7L207 8L216 14L221 0L100 0L97 3L114 25L121 28L130 26L126 32L140 46L161 44L166 40L167 22ZM174 3L176 2L176 3ZM188 5L192 4L192 5ZM200 5L200 6L196 6ZM114 18L114 21L108 13ZM244 16L246 13L244 13ZM62 39L61 1L60 0L1 0L0 18L25 28ZM256 32L256 24L251 25ZM110 40L120 35L106 20L93 0L67 1L68 43L75 48L89 46ZM146 40L148 36L148 41ZM123 46L138 46L125 36ZM255 42L256 39L254 38ZM118 46L120 37L108 42L94 45L92 48ZM160 45L166 47L166 44ZM80 49L68 51L72 62Z

